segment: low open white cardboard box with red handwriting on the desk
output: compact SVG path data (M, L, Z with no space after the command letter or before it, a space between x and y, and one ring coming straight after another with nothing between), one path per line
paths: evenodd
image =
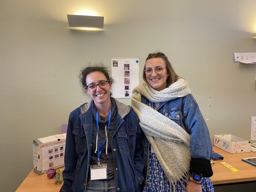
M249 153L250 143L251 141L235 135L214 135L214 146L229 153Z

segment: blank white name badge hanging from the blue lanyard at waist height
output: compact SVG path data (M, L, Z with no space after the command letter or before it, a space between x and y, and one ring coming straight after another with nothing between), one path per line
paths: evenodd
M107 179L107 164L91 165L91 180Z

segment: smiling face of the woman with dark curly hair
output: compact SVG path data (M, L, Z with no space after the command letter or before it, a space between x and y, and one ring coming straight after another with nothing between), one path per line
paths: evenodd
M87 85L99 84L101 81L107 81L107 80L108 79L102 72L95 71L87 75L86 84ZM99 85L97 85L95 91L89 91L88 89L86 89L86 92L91 96L96 106L110 104L111 103L110 101L111 86L112 84L109 82L107 87L104 89L100 88Z

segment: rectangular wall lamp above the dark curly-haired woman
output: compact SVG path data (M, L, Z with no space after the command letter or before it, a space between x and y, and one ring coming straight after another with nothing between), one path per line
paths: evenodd
M67 15L70 27L103 28L104 17L87 15Z

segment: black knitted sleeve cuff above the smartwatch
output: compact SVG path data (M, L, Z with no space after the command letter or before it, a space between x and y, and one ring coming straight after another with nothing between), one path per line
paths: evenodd
M211 161L203 158L191 158L189 171L190 173L201 173L203 177L213 175Z

